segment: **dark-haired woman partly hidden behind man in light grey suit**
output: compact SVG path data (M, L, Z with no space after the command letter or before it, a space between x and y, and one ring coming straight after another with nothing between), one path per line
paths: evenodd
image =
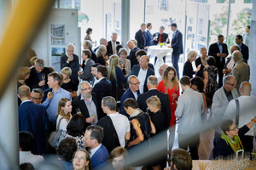
M204 81L203 79L201 79L201 77L194 77L191 79L191 88L193 90L195 90L196 92L201 93L202 97L203 97L203 101L204 101L204 108L205 108L205 117L202 119L204 120L205 118L207 118L207 95L206 93L203 91L204 90Z

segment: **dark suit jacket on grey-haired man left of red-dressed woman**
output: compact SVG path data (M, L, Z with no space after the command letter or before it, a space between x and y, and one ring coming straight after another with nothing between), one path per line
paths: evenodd
M171 108L170 108L170 102L169 102L169 96L168 94L161 93L157 89L151 89L148 92L144 94L140 94L137 97L137 105L138 107L146 112L148 106L146 104L146 100L150 98L151 96L156 95L160 99L161 103L161 111L165 114L165 127L169 127L170 121L171 121Z

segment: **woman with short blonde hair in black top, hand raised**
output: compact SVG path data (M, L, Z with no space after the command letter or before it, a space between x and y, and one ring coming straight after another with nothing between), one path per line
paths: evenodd
M189 78L193 78L193 75L200 71L201 65L197 66L196 71L193 71L192 62L195 61L197 53L195 51L190 51L188 54L188 60L185 62L183 66L183 76L188 76Z

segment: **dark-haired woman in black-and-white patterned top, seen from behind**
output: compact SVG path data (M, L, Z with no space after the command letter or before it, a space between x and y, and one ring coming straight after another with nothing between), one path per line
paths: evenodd
M78 150L85 149L83 137L85 132L84 116L81 114L73 115L72 119L67 125L67 131L62 131L59 142L66 138L72 138L76 140Z

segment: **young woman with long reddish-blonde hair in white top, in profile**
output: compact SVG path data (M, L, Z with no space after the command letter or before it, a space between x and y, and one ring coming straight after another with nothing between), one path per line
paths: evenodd
M58 105L58 113L56 114L56 129L67 131L67 124L71 119L72 105L70 99L61 98Z

